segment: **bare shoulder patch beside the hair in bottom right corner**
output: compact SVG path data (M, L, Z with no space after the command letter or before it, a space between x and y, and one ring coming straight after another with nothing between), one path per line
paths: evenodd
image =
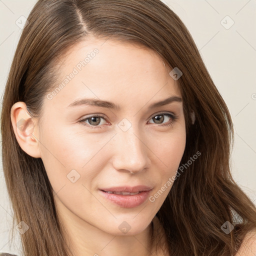
M256 255L256 230L248 232L235 256L255 256Z

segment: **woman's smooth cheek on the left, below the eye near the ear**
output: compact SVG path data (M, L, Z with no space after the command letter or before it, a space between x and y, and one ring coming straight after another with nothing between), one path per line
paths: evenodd
M96 140L92 134L71 132L70 127L54 127L45 126L40 140L41 158L53 190L57 192L72 181L90 184L106 161L100 149L109 138Z

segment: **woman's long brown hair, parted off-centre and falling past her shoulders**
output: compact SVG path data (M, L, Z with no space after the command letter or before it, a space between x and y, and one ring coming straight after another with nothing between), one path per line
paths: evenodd
M1 113L2 163L13 226L14 220L29 226L21 235L24 255L71 252L42 160L20 148L10 109L24 101L31 116L40 117L43 97L55 87L59 58L90 35L143 45L182 71L177 82L186 126L183 171L156 215L172 256L234 255L245 234L256 228L256 208L230 173L233 126L227 106L179 17L160 0L38 0L27 19ZM200 156L187 166L197 151ZM221 228L226 221L234 227L229 233Z

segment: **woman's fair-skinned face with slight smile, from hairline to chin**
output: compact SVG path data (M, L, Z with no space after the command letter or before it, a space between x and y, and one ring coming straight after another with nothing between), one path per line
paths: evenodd
M161 207L184 152L177 81L152 50L110 39L80 42L62 62L38 134L56 207L81 226L137 234Z

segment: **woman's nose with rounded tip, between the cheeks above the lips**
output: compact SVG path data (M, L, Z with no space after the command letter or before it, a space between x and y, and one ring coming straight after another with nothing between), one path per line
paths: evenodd
M118 171L137 173L149 167L148 147L145 139L129 128L127 131L118 131L112 141L112 165Z

